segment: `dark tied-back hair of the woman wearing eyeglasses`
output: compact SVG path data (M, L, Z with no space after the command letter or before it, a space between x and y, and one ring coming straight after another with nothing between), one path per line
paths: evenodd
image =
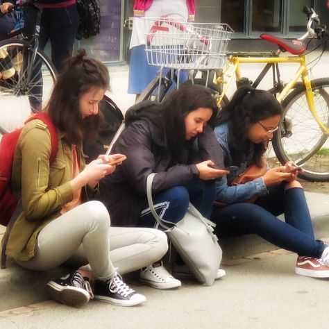
M282 115L282 106L276 98L265 90L255 90L251 86L240 87L230 103L220 112L217 125L228 122L228 146L233 165L240 165L250 146L248 128L258 121ZM267 144L254 144L253 162L261 167L261 158Z

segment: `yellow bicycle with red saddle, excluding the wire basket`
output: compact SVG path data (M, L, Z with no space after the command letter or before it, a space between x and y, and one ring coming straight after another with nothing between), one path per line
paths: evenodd
M251 85L258 87L269 69L273 71L273 88L269 90L282 103L284 112L272 144L282 164L292 160L304 171L301 177L312 181L329 180L329 78L310 80L307 69L305 40L317 37L328 40L328 31L321 26L318 15L312 9L304 8L308 17L307 33L298 40L284 40L273 35L262 34L263 40L277 44L278 51L271 56L249 56L235 54L217 72L216 85L221 94L217 103L221 106L231 81L237 85L250 83L243 78L240 65L243 63L266 63L258 78ZM280 57L282 51L294 56ZM298 68L286 83L280 79L279 64L296 63ZM299 82L301 80L301 82Z

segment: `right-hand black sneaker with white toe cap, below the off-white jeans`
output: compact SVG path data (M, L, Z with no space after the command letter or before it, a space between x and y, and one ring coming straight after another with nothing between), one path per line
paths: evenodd
M121 306L133 306L146 301L145 296L137 294L124 283L119 273L106 281L95 280L94 297Z

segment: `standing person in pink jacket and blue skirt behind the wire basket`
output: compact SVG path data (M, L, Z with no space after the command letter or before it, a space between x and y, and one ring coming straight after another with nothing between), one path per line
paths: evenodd
M186 22L194 21L194 0L135 0L133 33L130 39L130 66L128 93L136 97L145 89L157 74L159 67L147 63L145 54L145 22L141 17L160 17L174 15Z

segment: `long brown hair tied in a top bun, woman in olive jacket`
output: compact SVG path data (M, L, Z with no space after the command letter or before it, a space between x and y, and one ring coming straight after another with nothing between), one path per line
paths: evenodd
M67 61L67 67L58 76L45 110L70 143L96 140L101 116L90 115L83 119L79 100L91 88L107 90L109 84L107 67L99 60L88 58L85 49L78 50L76 56Z

